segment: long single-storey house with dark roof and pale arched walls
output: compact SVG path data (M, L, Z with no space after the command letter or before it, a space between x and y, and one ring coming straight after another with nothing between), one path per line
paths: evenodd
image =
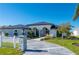
M47 34L50 34L53 37L57 36L57 26L48 22L0 27L1 32L9 33L10 36L12 36L15 31L17 31L18 35L21 35L23 31L25 32L25 34L27 34L29 30L32 30L34 32L34 35L37 35L38 33L39 37L45 36Z

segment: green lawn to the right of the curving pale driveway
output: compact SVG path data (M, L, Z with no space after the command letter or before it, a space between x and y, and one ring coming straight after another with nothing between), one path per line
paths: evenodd
M53 38L53 39L49 39L46 40L47 42L50 43L55 43L61 46L64 46L68 49L70 49L71 51L73 51L75 54L79 55L79 47L72 45L72 43L79 43L79 40L68 40L68 39L61 39L61 38Z

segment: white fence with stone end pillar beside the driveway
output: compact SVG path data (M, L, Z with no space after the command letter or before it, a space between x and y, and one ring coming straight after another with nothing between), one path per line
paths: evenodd
M6 36L0 36L0 48L6 47L6 48L19 48L22 51L26 50L26 38L24 36L20 37L6 37Z

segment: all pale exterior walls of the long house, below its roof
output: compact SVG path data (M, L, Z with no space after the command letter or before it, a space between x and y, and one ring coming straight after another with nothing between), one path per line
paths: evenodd
M47 28L49 30L49 34L51 36L56 37L56 35L57 35L57 30L56 29L51 29L51 25L29 26L28 28L31 28L31 29L37 28L38 31L39 31L39 37L41 37L42 34L44 34L44 33L42 33L43 28ZM23 33L23 30L22 29L0 29L0 31L3 32L4 35L5 35L5 33L9 33L10 36L13 36L14 35L14 31L15 30L17 30L18 35L21 35ZM29 31L28 29L25 29L25 32L26 33L28 31Z

